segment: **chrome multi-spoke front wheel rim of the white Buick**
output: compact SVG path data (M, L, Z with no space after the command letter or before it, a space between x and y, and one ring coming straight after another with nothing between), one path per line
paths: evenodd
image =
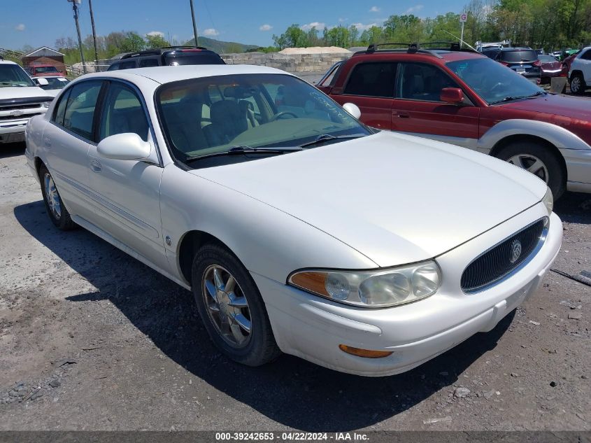
M250 309L234 276L220 265L211 265L204 272L202 287L208 317L220 337L234 348L247 346L252 334Z

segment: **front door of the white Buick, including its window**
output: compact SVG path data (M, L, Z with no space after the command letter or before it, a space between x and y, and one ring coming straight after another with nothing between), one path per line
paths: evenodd
M99 140L133 132L152 143L148 118L138 95L123 83L108 87L98 128ZM160 221L162 167L88 152L87 171L97 209L93 223L162 269L168 269Z

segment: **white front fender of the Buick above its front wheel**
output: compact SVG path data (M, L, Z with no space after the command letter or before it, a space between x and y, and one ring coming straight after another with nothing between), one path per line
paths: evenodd
M280 283L304 267L378 267L308 223L175 164L164 168L160 192L162 234L170 237L166 255L171 271L181 280L179 244L185 233L194 230L222 241L248 271Z

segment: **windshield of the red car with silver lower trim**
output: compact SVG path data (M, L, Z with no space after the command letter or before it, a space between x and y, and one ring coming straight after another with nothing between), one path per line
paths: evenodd
M543 92L513 69L489 58L448 62L446 66L488 104L508 97L531 97Z

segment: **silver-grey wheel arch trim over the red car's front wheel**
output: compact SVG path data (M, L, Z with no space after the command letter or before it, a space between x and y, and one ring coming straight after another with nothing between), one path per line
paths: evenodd
M581 137L573 134L568 129L564 129L564 127L554 125L553 123L522 118L503 120L497 123L497 125L494 125L478 139L478 150L480 152L490 153L490 150L499 141L508 136L515 135L531 135L545 139L559 150L591 150L591 146L585 143Z

